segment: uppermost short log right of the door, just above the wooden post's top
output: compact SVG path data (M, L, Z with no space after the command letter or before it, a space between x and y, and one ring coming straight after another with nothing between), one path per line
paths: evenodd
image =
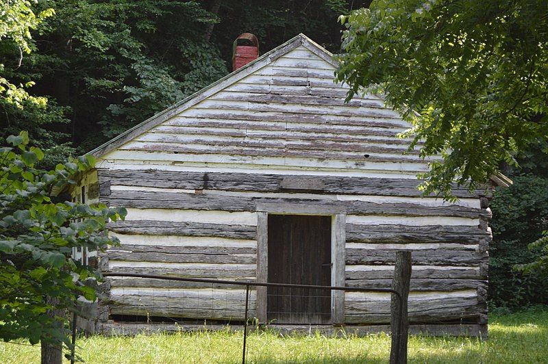
M356 243L460 243L479 244L490 241L488 231L477 226L408 226L400 224L347 224L347 242Z

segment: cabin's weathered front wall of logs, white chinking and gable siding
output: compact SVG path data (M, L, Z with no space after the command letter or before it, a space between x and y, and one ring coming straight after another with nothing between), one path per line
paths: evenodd
M334 66L299 46L103 157L100 199L127 207L108 272L253 280L258 204L346 213L345 283L390 287L412 250L410 321L486 323L486 192L421 197L427 161L376 96L344 99ZM483 203L482 203L483 201ZM241 320L238 287L111 278L111 315ZM256 309L251 295L251 315ZM345 295L347 324L390 322L390 296Z

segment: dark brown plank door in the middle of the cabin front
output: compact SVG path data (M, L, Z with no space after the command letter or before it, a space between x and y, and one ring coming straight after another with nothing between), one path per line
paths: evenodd
M269 282L331 285L331 217L269 215ZM268 287L273 324L329 324L331 291Z

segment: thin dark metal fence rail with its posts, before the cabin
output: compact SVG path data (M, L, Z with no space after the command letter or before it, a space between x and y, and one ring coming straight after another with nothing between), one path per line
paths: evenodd
M242 348L242 363L245 363L245 353L246 353L246 343L247 343L247 330L248 330L248 311L249 311L249 288L250 287L287 287L287 288L302 288L302 289L329 289L329 291L353 291L353 292L382 292L394 294L397 297L397 308L398 312L402 313L404 307L406 307L406 302L401 292L396 289L389 288L359 288L359 287L340 287L340 286L324 286L324 285L295 285L290 283L262 283L255 281L225 281L221 279L211 279L211 278L183 278L183 277L174 277L174 276L160 276L155 274L134 274L134 273L114 273L114 272L105 272L103 273L104 277L134 277L134 278L151 278L151 279L163 279L167 281L184 281L184 282L195 282L195 283L211 283L217 285L235 285L245 287L245 317L244 317L244 335L243 335L243 348ZM394 297L394 296L393 296ZM394 313L392 313L391 322L394 322ZM404 320L407 320L407 315L397 315L397 333L392 333L393 336L403 337L407 335L406 331L403 332L403 328L406 328ZM394 327L393 327L394 331ZM402 350L399 344L395 345L394 341L392 343L392 348L390 349L390 357L392 358L395 355L396 358L401 357L399 351Z

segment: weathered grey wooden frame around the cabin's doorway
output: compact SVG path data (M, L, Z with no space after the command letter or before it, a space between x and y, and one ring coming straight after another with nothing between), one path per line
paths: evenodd
M258 203L257 211L257 282L269 277L269 213L276 215L332 216L331 219L331 285L345 286L346 209L336 205L306 205L300 203ZM261 324L266 324L266 287L257 287L256 312ZM345 320L345 291L331 291L332 324Z

